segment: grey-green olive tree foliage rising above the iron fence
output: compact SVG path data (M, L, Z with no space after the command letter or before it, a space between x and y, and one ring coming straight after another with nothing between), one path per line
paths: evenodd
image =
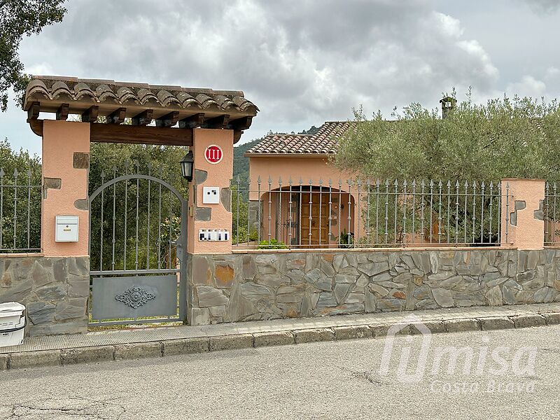
M556 100L467 95L447 118L410 104L394 120L355 111L355 130L341 139L341 169L373 179L499 180L559 178L560 106Z

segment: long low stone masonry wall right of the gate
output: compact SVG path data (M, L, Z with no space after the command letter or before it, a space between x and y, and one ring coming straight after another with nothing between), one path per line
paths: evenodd
M560 250L190 255L195 325L560 301Z

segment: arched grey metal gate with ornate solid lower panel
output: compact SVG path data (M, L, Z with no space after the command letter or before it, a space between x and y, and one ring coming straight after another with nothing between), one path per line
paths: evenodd
M125 170L89 198L90 326L186 321L187 202Z

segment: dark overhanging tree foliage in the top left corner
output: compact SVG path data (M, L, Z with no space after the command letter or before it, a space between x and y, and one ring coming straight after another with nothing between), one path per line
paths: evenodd
M20 95L29 80L18 49L23 36L39 34L43 27L61 22L65 0L0 0L0 108L8 107L8 90Z

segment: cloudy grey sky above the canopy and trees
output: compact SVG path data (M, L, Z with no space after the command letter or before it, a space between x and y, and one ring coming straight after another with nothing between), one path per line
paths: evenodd
M560 0L69 0L26 38L26 71L243 90L241 141L421 102L560 97ZM0 137L41 152L12 102Z

